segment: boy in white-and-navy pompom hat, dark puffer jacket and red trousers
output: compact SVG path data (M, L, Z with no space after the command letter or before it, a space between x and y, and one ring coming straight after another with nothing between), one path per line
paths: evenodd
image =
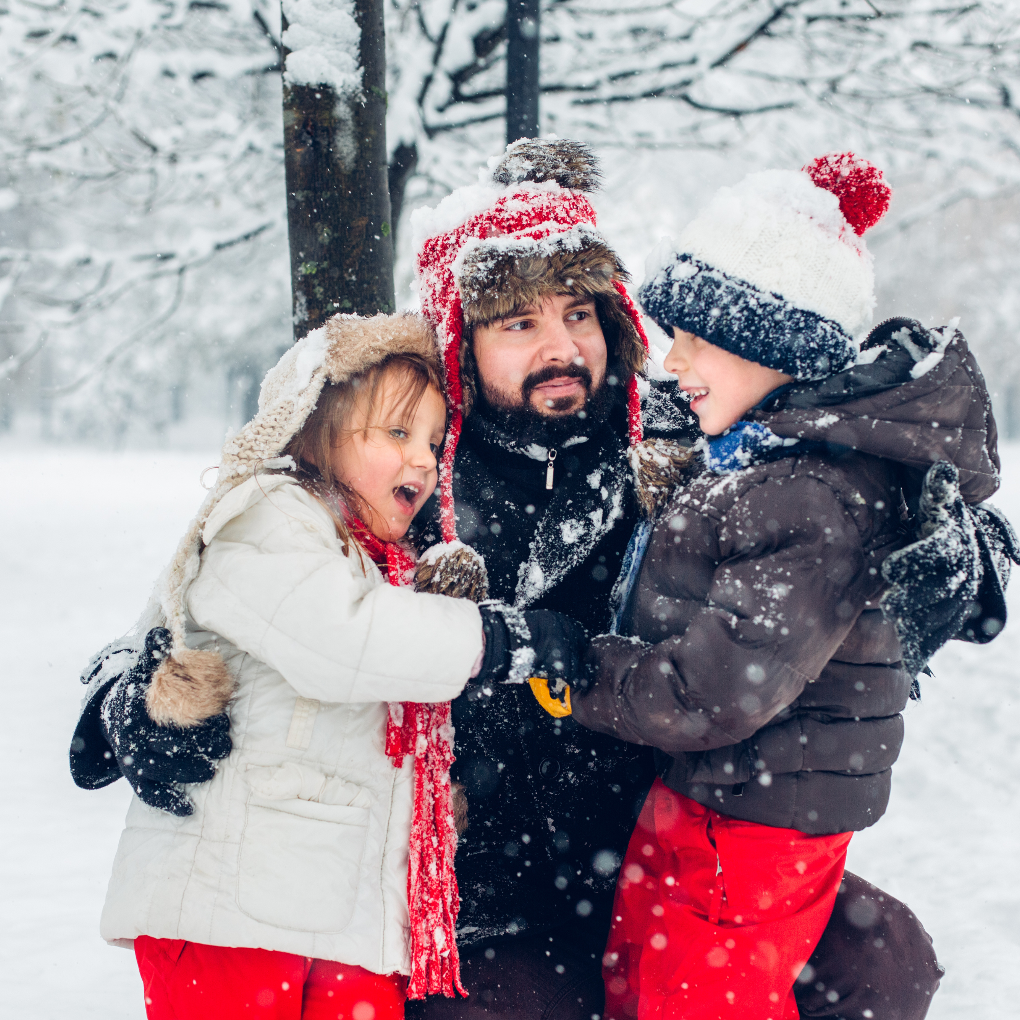
M878 603L901 508L937 461L967 503L998 487L958 333L901 319L860 350L860 235L888 194L850 154L752 174L642 290L708 440L624 592L630 636L596 640L573 699L577 722L655 747L660 776L620 870L607 1020L798 1017L794 982L903 740L913 678Z

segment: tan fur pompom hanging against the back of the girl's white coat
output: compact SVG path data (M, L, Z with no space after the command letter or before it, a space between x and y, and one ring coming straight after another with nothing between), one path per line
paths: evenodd
M160 726L197 726L226 711L236 684L218 652L184 649L160 663L145 707Z

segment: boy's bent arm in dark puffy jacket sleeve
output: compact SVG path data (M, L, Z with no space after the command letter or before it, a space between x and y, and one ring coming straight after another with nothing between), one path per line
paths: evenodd
M793 519L776 520L782 508ZM740 743L819 675L877 586L854 521L817 479L755 487L717 531L709 598L682 633L593 643L595 679L573 698L581 725L671 754ZM674 548L653 543L641 580L666 599L683 569Z

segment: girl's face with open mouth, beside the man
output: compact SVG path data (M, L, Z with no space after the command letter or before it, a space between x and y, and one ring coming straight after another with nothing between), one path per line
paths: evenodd
M404 538L436 489L437 457L446 430L446 403L428 387L408 420L406 381L389 373L372 407L359 407L350 435L334 447L336 477L358 496L354 508L384 542Z

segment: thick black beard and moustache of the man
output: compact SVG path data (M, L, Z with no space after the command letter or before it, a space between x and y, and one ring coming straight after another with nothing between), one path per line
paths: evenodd
M578 378L584 386L584 402L572 414L543 414L531 403L531 394L537 387L555 378ZM521 384L518 401L510 403L504 394L489 389L479 379L480 394L478 410L500 431L511 437L515 443L555 447L574 436L592 436L609 417L616 398L616 387L607 381L609 373L595 391L592 390L592 372L586 365L565 365L557 368L549 365L531 372ZM553 400L550 411L562 411L573 403L573 397ZM560 405L559 407L557 405Z

